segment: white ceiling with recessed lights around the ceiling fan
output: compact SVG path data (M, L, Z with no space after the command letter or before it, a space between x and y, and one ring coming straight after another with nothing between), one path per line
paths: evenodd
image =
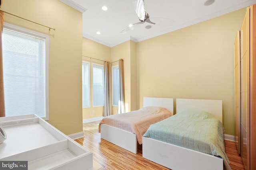
M182 27L205 21L256 4L256 0L144 0L145 10L155 25L143 23L127 33L129 24L140 22L132 0L61 0L83 13L83 37L114 47L128 40L140 42ZM207 2L206 2L207 3ZM108 8L102 10L102 6ZM157 19L167 18L167 19ZM151 25L150 29L146 29ZM96 34L99 31L100 35Z

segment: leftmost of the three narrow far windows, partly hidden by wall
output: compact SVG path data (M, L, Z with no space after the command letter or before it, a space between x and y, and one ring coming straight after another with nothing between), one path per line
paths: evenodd
M90 63L82 64L82 103L83 108L90 107Z

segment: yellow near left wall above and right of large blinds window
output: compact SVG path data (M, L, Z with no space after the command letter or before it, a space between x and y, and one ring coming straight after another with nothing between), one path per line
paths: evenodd
M50 36L49 123L66 135L82 129L82 13L59 0L5 0L5 22ZM75 25L75 26L73 26Z

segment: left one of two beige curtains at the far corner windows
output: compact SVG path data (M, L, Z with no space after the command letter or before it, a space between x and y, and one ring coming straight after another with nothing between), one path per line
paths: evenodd
M109 116L111 113L111 104L110 104L110 63L108 61L104 62L104 109L103 116Z

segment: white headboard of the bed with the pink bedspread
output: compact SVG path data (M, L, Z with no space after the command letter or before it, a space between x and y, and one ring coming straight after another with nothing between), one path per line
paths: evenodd
M143 107L158 106L165 107L173 113L173 98L143 98Z

